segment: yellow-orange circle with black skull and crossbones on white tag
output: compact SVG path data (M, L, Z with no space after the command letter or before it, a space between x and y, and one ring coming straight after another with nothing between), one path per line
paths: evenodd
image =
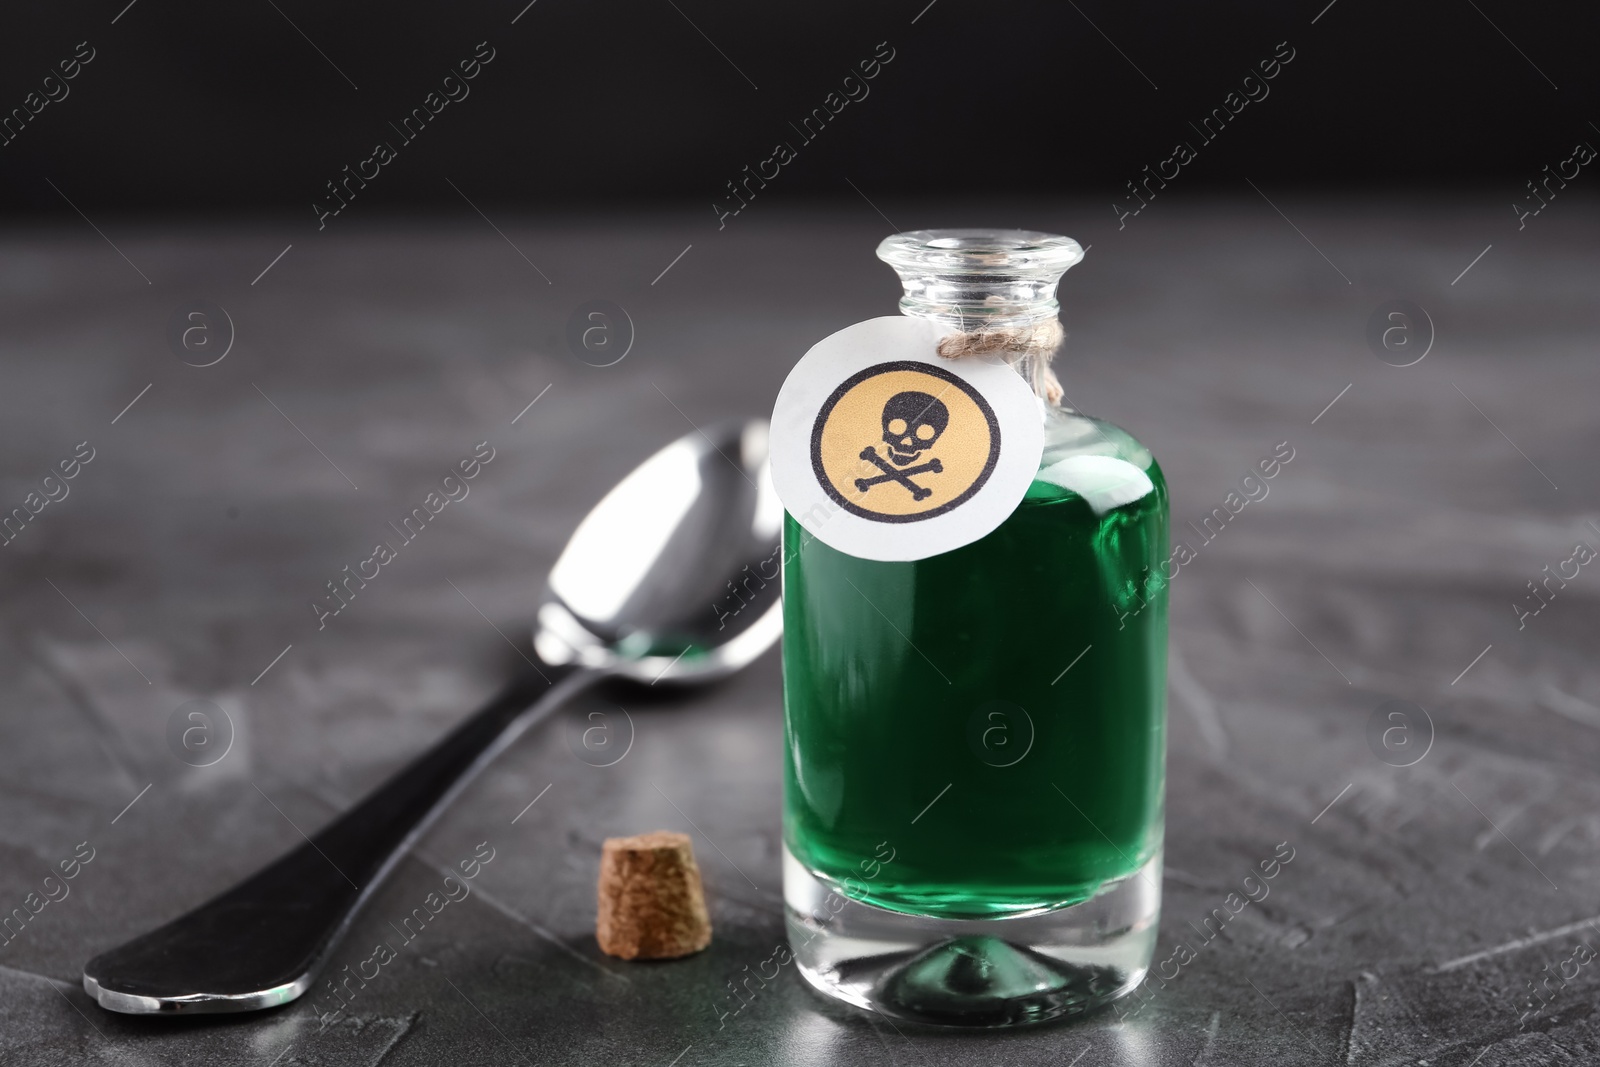
M854 515L907 523L970 501L1000 459L1000 422L970 382L931 363L851 374L818 411L811 469Z

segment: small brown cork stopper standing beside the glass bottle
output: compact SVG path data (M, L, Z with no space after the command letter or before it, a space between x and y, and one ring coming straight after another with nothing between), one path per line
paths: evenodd
M600 849L600 950L622 960L674 960L710 944L710 915L688 833L608 837Z

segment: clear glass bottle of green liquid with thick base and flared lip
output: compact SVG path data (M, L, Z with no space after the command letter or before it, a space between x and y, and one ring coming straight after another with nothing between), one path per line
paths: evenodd
M901 312L963 331L1054 320L1082 254L1027 230L878 246ZM784 518L790 945L824 993L923 1022L1088 1011L1155 947L1166 485L1126 430L1046 400L1048 362L1010 362L1045 450L997 530L877 561Z

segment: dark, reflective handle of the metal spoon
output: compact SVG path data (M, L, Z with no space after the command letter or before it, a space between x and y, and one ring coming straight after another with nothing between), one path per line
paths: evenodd
M102 1008L134 1014L254 1011L294 1000L434 816L517 734L598 677L538 664L294 851L90 960L83 989Z

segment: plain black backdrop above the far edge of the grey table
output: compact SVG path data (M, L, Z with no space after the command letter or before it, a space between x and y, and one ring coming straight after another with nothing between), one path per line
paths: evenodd
M310 219L325 182L374 141L397 141L387 123L478 42L494 62L362 192L363 218L469 211L462 197L485 210L707 213L779 139L800 158L773 198L853 198L854 182L866 197L1074 192L1109 211L1178 139L1198 147L1187 123L1278 42L1294 61L1184 168L1184 195L1253 195L1250 178L1267 190L1491 186L1509 205L1578 139L1600 138L1594 6L525 3L8 5L0 112L78 42L96 58L0 147L0 211L72 214L70 197L90 218ZM870 96L802 146L789 123L878 42L894 61Z

